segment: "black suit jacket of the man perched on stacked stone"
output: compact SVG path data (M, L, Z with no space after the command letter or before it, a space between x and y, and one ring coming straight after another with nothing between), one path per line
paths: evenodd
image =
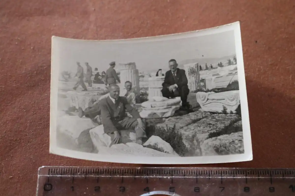
M165 73L165 79L162 84L163 88L168 88L169 86L173 84L177 84L178 88L181 88L182 86L187 86L187 78L185 75L185 71L183 69L177 68L176 70L176 80L174 80L173 73L171 70L167 71Z

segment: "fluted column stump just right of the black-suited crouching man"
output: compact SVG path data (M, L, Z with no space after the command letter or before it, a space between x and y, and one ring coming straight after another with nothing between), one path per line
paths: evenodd
M201 88L199 63L189 63L184 65L190 92L195 92Z

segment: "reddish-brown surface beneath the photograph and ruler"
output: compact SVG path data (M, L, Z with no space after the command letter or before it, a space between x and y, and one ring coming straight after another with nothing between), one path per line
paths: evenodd
M49 154L52 35L136 38L240 21L253 161L186 166L295 167L294 14L294 0L1 0L1 195L35 195L42 165L134 166Z

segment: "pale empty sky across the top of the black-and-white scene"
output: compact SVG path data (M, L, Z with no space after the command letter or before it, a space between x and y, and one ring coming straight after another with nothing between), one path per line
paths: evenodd
M234 31L173 40L150 41L142 43L114 43L60 39L60 70L76 72L76 61L85 68L84 63L106 71L109 63L135 62L142 72L168 69L171 58L180 62L194 58L222 58L234 55ZM202 56L203 55L203 56ZM118 67L116 67L118 68Z

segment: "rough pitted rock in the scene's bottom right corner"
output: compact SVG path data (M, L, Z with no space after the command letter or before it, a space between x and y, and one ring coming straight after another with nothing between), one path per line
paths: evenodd
M244 153L243 132L209 138L201 145L201 150L203 156Z

